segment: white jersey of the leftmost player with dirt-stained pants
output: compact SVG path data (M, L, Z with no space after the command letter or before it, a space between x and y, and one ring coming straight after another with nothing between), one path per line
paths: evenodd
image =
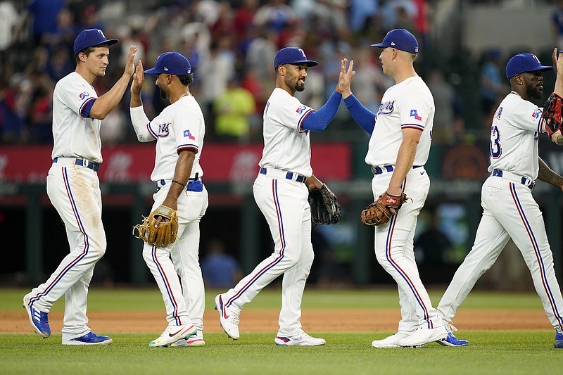
M101 120L83 117L84 106L96 98L94 87L77 72L57 82L53 91L53 159L84 158L102 162Z

